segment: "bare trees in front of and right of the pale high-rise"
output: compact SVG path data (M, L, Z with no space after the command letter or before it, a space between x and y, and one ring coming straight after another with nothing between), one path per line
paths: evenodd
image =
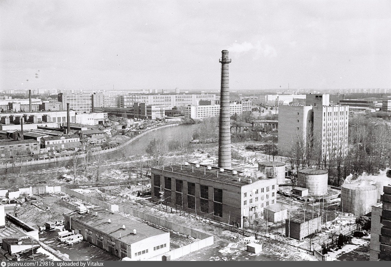
M310 128L310 127L308 127ZM308 131L305 140L292 138L288 161L292 169L317 166L327 169L329 183L339 186L350 173L377 174L391 165L391 130L388 125L376 122L370 116L356 115L350 118L347 154L341 146L330 151L330 159L322 156L321 136Z

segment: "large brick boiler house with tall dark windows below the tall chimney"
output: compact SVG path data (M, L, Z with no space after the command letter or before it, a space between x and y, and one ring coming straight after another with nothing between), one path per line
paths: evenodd
M239 227L277 200L277 178L187 162L151 168L151 175L153 202Z

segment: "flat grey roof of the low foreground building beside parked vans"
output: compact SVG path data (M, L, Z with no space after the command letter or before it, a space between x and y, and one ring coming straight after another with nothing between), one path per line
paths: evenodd
M120 241L129 245L155 235L167 233L167 231L136 221L131 217L111 214L108 211L98 212L98 216L95 216L95 212L71 216L72 220L88 225L95 230L109 235L111 238L120 239ZM109 219L111 222L108 222ZM125 225L125 229L122 229L123 225ZM133 234L134 229L136 229L136 235Z

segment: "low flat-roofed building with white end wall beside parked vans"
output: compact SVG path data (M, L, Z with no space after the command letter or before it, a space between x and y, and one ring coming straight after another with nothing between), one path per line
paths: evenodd
M108 211L64 216L65 228L122 259L145 260L170 251L170 232Z

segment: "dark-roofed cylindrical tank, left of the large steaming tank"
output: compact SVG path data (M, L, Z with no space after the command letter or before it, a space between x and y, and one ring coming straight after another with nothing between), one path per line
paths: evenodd
M327 194L328 171L307 168L297 173L297 186L308 188L310 196L324 196Z

